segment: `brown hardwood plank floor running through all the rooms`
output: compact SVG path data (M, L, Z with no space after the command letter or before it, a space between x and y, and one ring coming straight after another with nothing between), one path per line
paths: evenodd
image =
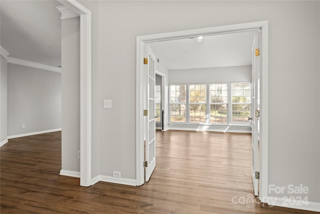
M233 197L252 195L249 134L156 132L157 164L149 182L98 182L90 187L79 186L78 178L55 174L60 160L52 155L57 152L52 142L58 135L39 136L47 139L39 158L33 138L26 138L30 148L28 143L15 145L13 139L1 147L1 213L314 213L232 203Z

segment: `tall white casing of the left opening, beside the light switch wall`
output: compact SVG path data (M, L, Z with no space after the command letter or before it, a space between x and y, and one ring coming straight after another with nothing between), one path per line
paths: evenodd
M57 0L80 16L80 185L91 185L91 11L74 0Z

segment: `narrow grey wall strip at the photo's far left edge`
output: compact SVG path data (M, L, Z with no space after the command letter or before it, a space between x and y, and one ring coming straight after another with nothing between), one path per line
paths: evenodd
M0 143L7 137L7 60L0 55Z

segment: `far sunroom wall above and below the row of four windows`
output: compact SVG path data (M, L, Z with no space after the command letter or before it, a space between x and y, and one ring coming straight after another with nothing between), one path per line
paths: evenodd
M233 66L216 68L197 68L169 70L170 84L210 84L230 82L251 82L251 66ZM186 123L170 123L169 129L206 130L251 133L251 127L238 125L197 125Z

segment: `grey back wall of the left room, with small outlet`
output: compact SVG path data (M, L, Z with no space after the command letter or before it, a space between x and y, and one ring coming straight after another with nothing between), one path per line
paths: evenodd
M61 74L7 65L7 135L61 128Z

